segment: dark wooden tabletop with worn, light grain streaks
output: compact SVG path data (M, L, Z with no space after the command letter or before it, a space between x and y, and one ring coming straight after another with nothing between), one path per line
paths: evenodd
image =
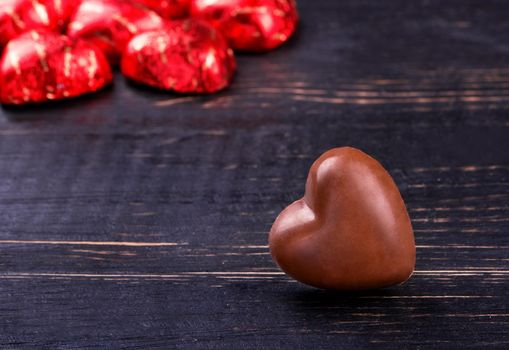
M1 349L509 348L506 1L300 1L213 96L114 87L0 114ZM416 272L360 294L267 232L325 150L394 176Z

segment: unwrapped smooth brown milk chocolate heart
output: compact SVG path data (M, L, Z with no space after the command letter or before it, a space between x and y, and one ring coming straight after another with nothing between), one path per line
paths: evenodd
M412 225L396 184L375 159L349 147L318 158L304 197L279 215L269 242L287 274L324 289L391 286L415 265Z

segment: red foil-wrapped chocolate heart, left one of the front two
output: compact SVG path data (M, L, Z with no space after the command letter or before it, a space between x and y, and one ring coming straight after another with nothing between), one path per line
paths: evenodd
M0 101L25 104L94 92L112 81L106 57L84 40L29 31L11 40L0 61Z

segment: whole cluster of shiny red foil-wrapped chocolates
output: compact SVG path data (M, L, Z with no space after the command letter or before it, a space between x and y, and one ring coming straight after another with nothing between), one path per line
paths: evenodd
M80 96L128 78L181 93L230 85L233 50L283 44L294 0L2 0L0 102Z

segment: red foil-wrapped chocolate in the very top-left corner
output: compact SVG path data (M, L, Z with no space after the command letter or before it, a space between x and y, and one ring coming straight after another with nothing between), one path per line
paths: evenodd
M33 29L59 30L56 13L42 0L0 0L0 48Z

